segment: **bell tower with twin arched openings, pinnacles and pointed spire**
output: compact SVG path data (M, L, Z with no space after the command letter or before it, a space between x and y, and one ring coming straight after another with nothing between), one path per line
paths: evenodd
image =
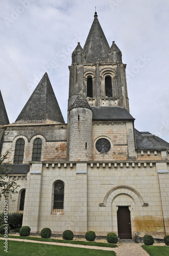
M129 111L125 68L122 52L115 41L109 47L95 12L85 46L82 49L78 42L72 53L68 110L78 84L90 106L120 106Z

